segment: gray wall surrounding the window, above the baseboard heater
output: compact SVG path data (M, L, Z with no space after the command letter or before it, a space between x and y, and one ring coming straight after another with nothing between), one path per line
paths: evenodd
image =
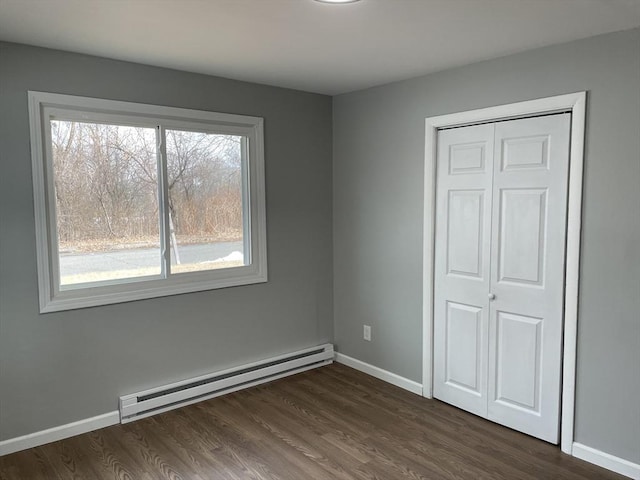
M265 118L269 282L38 314L27 90ZM0 43L0 440L332 339L331 98Z

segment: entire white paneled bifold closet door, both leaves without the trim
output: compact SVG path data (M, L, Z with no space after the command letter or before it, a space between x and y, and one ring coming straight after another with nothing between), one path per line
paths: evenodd
M552 443L570 120L438 133L434 396Z

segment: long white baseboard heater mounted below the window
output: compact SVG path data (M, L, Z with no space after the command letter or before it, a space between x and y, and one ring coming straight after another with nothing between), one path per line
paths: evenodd
M307 348L120 397L120 422L173 410L333 362L333 345Z

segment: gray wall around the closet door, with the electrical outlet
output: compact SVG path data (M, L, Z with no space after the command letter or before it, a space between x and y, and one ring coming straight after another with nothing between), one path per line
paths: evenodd
M580 90L589 100L575 440L640 462L638 29L334 98L335 343L421 381L425 117Z

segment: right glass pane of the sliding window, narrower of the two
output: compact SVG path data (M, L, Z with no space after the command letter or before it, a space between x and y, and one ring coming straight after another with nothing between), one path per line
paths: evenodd
M167 130L171 272L245 265L243 137Z

